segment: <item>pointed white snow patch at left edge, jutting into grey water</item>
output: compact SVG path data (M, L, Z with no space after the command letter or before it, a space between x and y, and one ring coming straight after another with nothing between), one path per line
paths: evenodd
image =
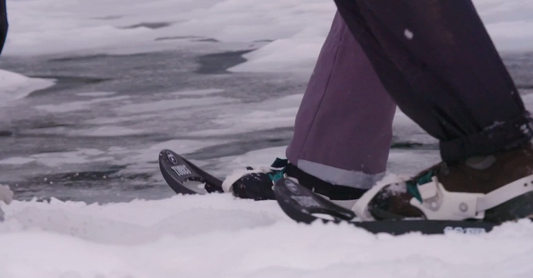
M0 106L9 105L13 100L24 98L33 91L46 89L54 83L53 80L30 78L0 69Z

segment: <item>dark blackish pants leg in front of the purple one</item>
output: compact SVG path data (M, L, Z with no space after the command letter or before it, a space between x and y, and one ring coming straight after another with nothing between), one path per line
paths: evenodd
M530 114L468 0L335 0L399 108L448 162L533 137Z

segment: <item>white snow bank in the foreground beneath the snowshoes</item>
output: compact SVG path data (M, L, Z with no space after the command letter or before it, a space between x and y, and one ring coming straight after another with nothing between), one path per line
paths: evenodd
M0 277L531 277L533 225L391 237L300 225L229 194L107 205L14 201Z

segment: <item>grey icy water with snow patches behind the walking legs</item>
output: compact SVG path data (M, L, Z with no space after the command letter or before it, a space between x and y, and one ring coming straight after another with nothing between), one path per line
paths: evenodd
M8 0L0 183L19 200L160 199L169 148L224 178L284 156L335 7L324 0ZM476 0L533 109L532 1ZM389 171L439 160L397 111Z

